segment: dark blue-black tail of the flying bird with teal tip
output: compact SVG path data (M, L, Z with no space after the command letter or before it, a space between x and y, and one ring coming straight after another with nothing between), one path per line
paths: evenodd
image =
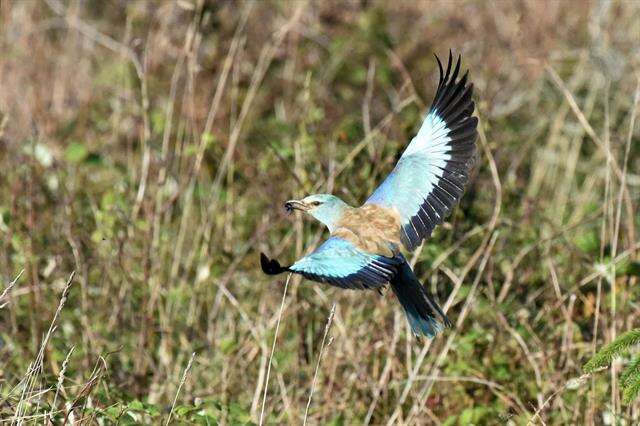
M451 327L451 321L440 306L429 296L420 284L408 263L403 263L391 280L391 288L407 314L411 330L431 338L442 331L442 326ZM440 321L438 321L440 317Z

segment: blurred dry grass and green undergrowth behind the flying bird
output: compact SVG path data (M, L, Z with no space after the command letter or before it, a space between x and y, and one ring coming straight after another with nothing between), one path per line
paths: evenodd
M633 1L1 2L0 417L637 424L628 359L581 367L640 318L639 40ZM478 169L412 260L454 327L299 277L280 316L259 252L326 237L283 201L363 202L449 49Z

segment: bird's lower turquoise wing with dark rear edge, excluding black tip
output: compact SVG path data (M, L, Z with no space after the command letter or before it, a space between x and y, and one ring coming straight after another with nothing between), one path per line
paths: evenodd
M384 286L401 263L401 258L369 254L347 240L330 237L288 270L337 287L368 289Z

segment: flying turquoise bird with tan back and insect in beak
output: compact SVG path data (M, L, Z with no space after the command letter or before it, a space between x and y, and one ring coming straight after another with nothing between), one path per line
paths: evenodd
M264 253L264 273L284 272L345 289L378 290L390 285L412 333L433 338L451 321L422 285L402 247L411 252L429 238L462 197L476 163L478 119L469 71L460 77L461 55L446 71L437 55L439 82L417 134L394 169L360 207L331 194L289 200L285 209L304 212L330 235L288 266Z

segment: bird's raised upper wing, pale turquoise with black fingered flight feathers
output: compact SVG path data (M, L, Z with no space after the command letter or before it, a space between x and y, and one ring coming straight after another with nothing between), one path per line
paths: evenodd
M440 82L429 113L396 167L366 202L398 211L400 238L409 250L449 215L464 192L475 155L478 119L471 116L469 72L458 80L458 57L451 74L451 52L446 73L436 60Z

